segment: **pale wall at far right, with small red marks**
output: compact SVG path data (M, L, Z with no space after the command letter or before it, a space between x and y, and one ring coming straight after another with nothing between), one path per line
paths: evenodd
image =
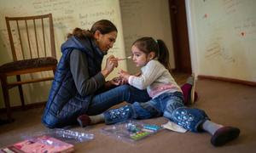
M256 1L186 1L193 71L256 82Z

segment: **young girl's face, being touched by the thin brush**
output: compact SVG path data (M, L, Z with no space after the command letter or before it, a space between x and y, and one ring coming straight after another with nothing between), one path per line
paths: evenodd
M131 54L132 54L132 60L137 67L142 67L146 65L150 60L147 54L143 53L140 49L138 49L134 45L131 47Z

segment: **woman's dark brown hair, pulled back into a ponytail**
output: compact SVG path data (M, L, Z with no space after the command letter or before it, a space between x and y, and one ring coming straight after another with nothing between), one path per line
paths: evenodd
M117 31L116 26L110 20L98 20L90 28L90 30L83 30L80 28L75 28L72 33L68 33L67 37L90 37L93 38L93 35L96 31L100 31L102 35L107 34L112 31Z

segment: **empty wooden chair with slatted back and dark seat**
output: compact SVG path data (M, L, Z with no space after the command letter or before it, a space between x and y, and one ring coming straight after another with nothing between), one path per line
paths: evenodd
M22 108L25 108L22 84L44 82L53 75L24 79L27 75L40 71L53 71L57 65L52 14L26 17L5 17L13 61L0 66L3 99L9 122L12 122L9 89L18 86ZM16 77L8 82L8 77ZM45 75L42 75L45 76ZM21 80L22 78L22 80Z

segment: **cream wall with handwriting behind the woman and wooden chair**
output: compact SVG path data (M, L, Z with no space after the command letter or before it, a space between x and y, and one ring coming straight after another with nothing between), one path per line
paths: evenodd
M61 57L61 43L65 41L67 33L72 32L75 27L90 29L96 20L102 19L113 21L119 31L117 41L109 50L109 54L125 57L119 0L2 0L0 1L0 65L12 61L4 17L49 13L53 14L58 59ZM126 63L120 63L119 68L126 70ZM114 71L110 77L117 75L117 71ZM47 100L50 85L51 82L24 85L26 104ZM11 92L11 105L20 105L17 88L9 91ZM2 90L0 91L0 101L1 108L3 107Z

